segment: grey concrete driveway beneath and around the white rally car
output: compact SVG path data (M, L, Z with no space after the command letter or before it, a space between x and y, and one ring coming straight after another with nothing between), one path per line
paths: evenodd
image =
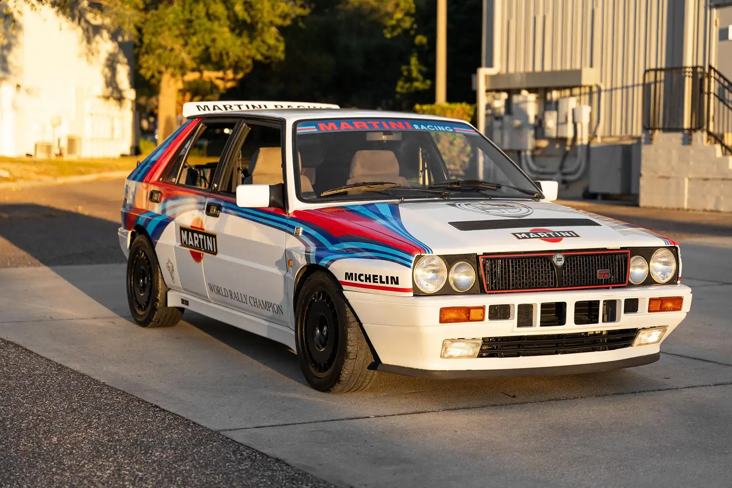
M321 394L267 339L188 312L135 326L122 263L44 256L0 269L0 338L343 487L729 487L732 237L681 244L692 312L619 372Z

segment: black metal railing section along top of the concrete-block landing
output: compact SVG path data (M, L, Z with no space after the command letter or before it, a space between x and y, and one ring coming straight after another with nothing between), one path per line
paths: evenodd
M701 66L646 70L643 73L643 129L692 132L703 129L706 122L705 78Z

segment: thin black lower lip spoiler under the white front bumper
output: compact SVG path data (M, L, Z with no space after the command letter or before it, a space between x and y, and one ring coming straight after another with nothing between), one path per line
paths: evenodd
M619 359L618 361L602 361L589 364L568 364L566 366L548 366L539 368L518 368L518 369L417 369L392 364L379 364L377 371L395 373L396 375L414 376L416 378L430 378L433 380L455 380L467 378L496 378L506 376L555 376L555 375L580 375L583 373L594 373L611 371L613 369L632 368L651 364L661 358L661 353L637 356L635 358Z

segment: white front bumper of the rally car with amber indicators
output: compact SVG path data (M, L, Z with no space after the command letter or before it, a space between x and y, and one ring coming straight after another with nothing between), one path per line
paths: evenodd
M505 358L442 359L440 353L444 339L564 334L655 326L668 327L663 337L665 340L686 317L692 299L691 289L685 285L472 296L399 297L355 291L344 293L378 355L378 369L428 378L574 374L648 364L658 359L660 343L597 352ZM681 311L647 312L650 298L665 296L683 297ZM625 313L624 299L638 299L638 312ZM604 300L619 300L616 320L603 323L600 319L600 323L575 324L575 302L586 300L600 300L601 304ZM567 304L564 326L539 326L536 320L532 327L518 327L518 304L534 304L534 310L537 311L542 303L558 301ZM441 307L485 305L488 309L491 304L510 304L511 318L488 320L486 317L483 322L449 324L438 321ZM583 365L586 367L580 367Z

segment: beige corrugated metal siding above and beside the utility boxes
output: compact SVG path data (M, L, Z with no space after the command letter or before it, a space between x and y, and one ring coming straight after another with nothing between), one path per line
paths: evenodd
M716 53L716 10L706 0L487 2L496 32L487 59L499 72L600 70L600 135L641 135L646 69L706 67ZM589 102L597 105L597 95Z

